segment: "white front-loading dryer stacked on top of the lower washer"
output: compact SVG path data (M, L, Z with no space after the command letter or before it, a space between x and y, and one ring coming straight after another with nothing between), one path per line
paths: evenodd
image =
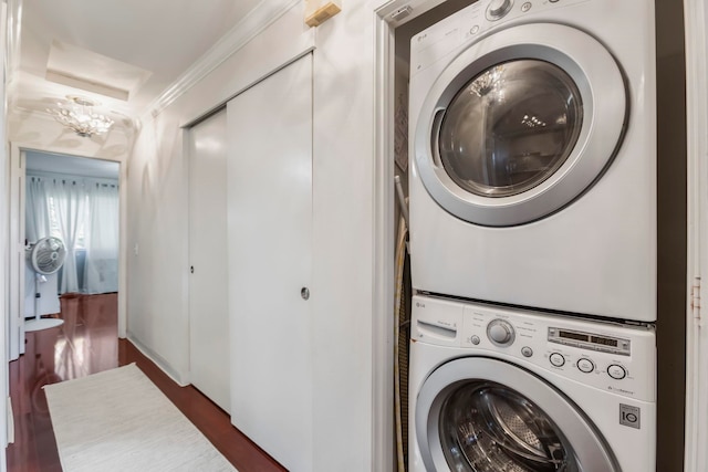
M410 54L414 289L655 321L654 2L479 0Z

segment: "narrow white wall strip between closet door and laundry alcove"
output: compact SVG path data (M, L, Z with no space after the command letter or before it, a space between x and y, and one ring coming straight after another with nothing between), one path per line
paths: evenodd
M374 9L343 2L314 54L314 464L372 464ZM393 283L393 281L392 281ZM383 368L383 366L382 366ZM393 444L392 444L393 447Z

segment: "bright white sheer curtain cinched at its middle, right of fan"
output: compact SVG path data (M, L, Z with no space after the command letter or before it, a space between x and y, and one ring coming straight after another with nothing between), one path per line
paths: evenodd
M86 190L81 182L71 179L54 179L48 183L46 195L54 202L59 231L66 245L59 293L80 292L76 242L86 220Z

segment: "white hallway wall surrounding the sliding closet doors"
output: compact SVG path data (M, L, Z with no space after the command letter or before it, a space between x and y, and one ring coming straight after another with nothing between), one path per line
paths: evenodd
M188 380L188 176L178 126L314 45L315 470L368 471L376 469L374 7L344 2L342 13L311 30L303 3L145 124L128 172L128 245L138 247L128 263L128 336L177 380Z

